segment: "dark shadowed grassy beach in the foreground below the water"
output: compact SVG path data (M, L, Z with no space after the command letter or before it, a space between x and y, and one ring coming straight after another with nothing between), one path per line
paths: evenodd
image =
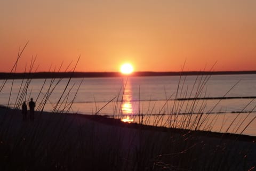
M253 170L256 137L0 108L0 170Z

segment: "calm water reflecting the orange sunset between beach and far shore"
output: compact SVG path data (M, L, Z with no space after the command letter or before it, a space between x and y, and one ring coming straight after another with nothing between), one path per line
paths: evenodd
M0 104L256 136L256 75L0 80Z

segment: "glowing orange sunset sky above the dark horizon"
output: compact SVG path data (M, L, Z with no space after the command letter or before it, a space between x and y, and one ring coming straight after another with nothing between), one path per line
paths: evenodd
M0 72L256 70L256 1L3 0ZM61 65L61 63L63 63ZM216 63L214 65L214 63Z

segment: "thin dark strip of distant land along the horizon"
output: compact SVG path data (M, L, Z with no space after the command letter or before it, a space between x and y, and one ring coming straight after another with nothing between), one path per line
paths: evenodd
M256 71L183 71L183 72L133 72L131 77L148 76L180 76L180 75L235 75L256 74ZM24 79L24 78L94 78L94 77L123 77L120 72L0 72L0 79Z

